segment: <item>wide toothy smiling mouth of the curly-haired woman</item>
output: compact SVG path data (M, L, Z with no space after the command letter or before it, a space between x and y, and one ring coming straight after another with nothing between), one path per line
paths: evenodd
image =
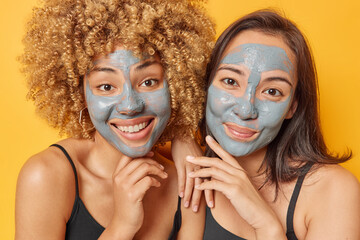
M146 142L154 128L154 117L141 117L135 119L112 119L109 121L110 126L120 136L128 141L137 141L129 145L142 145Z

